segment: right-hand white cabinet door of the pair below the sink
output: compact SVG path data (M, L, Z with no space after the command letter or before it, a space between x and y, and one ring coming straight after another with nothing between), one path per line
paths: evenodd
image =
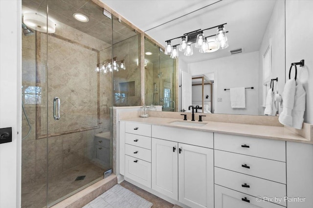
M179 143L179 202L214 207L213 150Z

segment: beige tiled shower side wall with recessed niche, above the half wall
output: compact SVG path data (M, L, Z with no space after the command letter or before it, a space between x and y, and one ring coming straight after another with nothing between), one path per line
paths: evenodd
M113 37L114 38L114 37ZM113 72L113 93L120 92L120 83L134 81L134 94L128 91L129 97L126 102L113 102L116 106L138 106L141 105L141 72L137 66L140 50L140 36L136 35L113 45L113 57L118 64L124 60L126 70L119 69Z

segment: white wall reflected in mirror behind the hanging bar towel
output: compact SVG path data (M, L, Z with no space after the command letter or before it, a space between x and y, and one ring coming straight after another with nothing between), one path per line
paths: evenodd
M259 109L259 52L237 54L188 64L192 76L214 73L214 113L258 115ZM224 88L254 87L246 89L246 108L230 107L229 90ZM217 102L222 98L222 102Z

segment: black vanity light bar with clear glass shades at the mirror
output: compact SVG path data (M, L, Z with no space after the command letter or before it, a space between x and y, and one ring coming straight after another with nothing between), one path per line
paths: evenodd
M227 23L216 25L210 28L206 28L204 30L201 30L201 29L195 30L189 33L185 33L183 34L183 36L166 40L164 54L170 55L171 58L177 58L178 57L177 46L179 45L180 52L184 52L185 56L192 56L193 55L193 47L192 47L193 43L195 43L196 48L199 48L200 53L211 53L219 49L225 49L228 47L228 39L226 37L226 33L228 33L228 31L225 31L225 28L224 28L225 24ZM216 34L205 37L203 31L211 30L214 28L218 28ZM181 38L180 44L172 46L171 41L174 39L178 39L178 38Z

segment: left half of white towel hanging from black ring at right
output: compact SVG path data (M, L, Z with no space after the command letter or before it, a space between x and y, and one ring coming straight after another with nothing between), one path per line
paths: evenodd
M292 116L291 111L294 104L294 94L295 94L295 80L287 80L283 92L284 106L283 111L279 115L279 122L283 125L292 126Z

